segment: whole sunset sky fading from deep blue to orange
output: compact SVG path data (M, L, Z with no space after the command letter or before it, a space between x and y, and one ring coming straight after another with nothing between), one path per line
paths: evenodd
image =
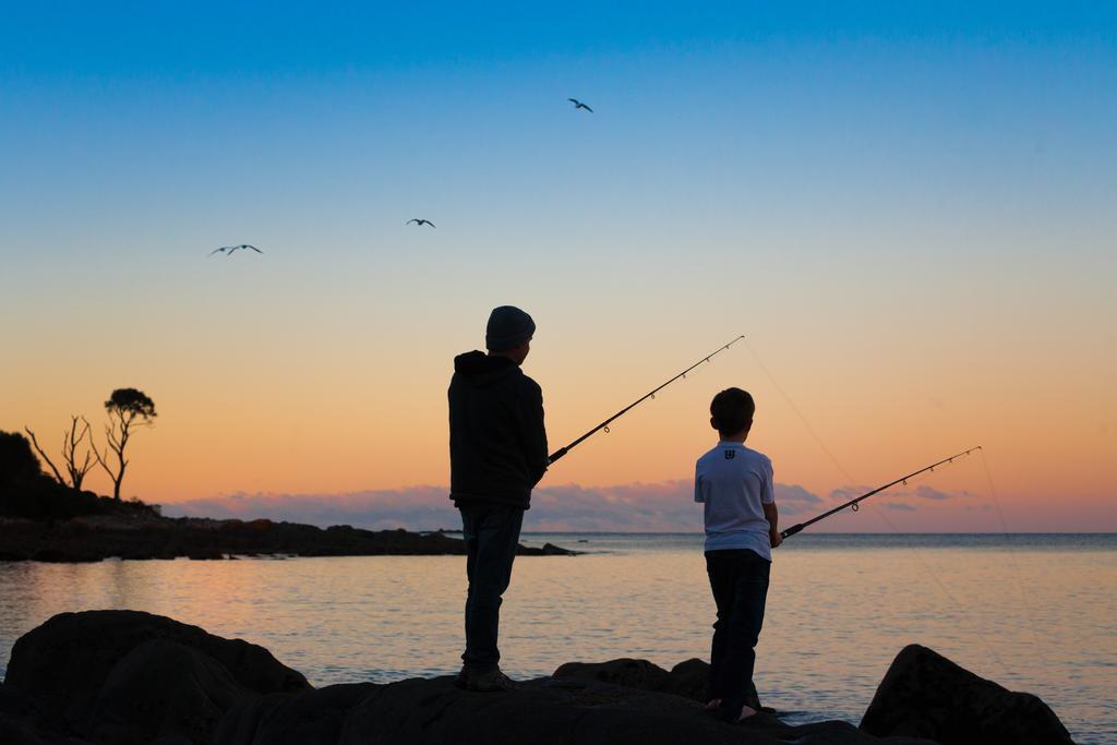
M452 527L452 357L514 304L554 449L747 342L526 529L699 529L737 385L793 516L983 446L827 529L1115 531L1114 132L1108 3L6 7L0 429L134 386L127 496Z

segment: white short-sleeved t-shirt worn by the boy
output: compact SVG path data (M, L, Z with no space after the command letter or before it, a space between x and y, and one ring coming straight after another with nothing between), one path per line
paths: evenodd
M718 442L695 465L695 502L706 506L706 551L750 548L772 561L761 506L775 502L767 456L741 442Z

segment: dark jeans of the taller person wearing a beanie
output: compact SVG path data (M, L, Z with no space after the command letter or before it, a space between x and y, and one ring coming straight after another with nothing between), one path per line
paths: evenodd
M500 595L512 581L512 562L519 545L524 509L508 505L461 505L466 541L465 667L489 670L500 661L496 640L500 624Z

